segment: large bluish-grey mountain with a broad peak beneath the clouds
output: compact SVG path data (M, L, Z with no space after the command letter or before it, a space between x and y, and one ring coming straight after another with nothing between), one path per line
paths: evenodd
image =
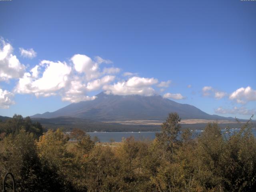
M182 119L233 120L207 114L192 105L180 104L160 95L118 96L101 92L96 96L95 100L70 104L54 112L35 114L31 118L69 116L97 121L165 120L170 112L177 112Z

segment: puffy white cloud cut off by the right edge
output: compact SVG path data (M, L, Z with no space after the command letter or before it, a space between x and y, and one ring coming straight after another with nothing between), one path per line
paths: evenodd
M236 100L236 102L241 104L245 104L249 101L256 101L256 90L253 90L250 86L246 88L241 87L230 94L229 99Z

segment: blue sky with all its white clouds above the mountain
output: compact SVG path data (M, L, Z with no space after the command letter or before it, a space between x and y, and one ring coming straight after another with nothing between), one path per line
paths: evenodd
M102 90L222 116L256 111L256 1L12 0L0 18L1 116Z

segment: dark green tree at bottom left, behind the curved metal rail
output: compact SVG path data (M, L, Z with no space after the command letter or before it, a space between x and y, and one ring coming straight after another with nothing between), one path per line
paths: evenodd
M0 141L1 180L8 171L14 174L17 191L47 192L52 186L58 186L58 182L51 184L52 180L47 181L49 172L42 169L34 135L23 129L18 134L9 134Z

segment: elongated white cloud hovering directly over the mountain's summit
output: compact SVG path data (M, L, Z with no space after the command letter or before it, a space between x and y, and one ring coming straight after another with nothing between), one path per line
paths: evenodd
M103 90L106 90L106 94L114 95L152 96L155 94L155 90L150 86L157 83L158 80L154 78L132 77L127 81L117 82L113 85L105 85L103 86Z

